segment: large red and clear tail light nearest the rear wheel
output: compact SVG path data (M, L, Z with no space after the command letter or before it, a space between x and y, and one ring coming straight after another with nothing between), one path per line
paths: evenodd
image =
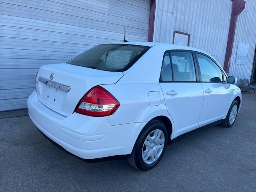
M76 106L75 112L89 116L112 115L120 106L118 100L106 89L96 86L90 89Z

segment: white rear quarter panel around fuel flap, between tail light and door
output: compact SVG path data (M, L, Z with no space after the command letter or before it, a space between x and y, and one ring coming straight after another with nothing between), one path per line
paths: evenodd
M134 122L148 122L157 116L167 116L164 96L159 83L154 84L116 84L102 85L111 92L120 102L120 107L111 116L107 116L111 125L120 125ZM158 91L160 104L150 106L148 93Z

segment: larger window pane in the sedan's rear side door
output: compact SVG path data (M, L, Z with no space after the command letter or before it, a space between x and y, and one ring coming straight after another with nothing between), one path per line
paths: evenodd
M196 72L191 52L170 52L172 78L174 81L196 81Z

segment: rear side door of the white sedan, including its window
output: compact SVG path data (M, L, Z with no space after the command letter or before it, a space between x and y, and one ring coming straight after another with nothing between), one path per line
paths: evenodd
M196 68L191 51L172 50L164 54L160 86L174 121L174 137L198 128L204 94Z

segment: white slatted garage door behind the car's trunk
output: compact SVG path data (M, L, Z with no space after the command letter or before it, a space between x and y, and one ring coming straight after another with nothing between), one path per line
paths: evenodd
M26 108L38 68L96 44L148 41L150 0L0 0L0 111Z

